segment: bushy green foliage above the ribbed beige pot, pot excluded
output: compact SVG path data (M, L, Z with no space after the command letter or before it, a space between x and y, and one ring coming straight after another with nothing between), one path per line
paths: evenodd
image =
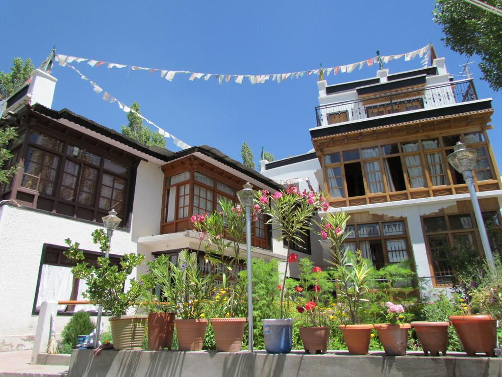
M110 241L103 229L92 232L92 241L99 245L101 252L109 251ZM134 278L130 279L130 288L123 292L123 285L133 270L141 264L145 258L135 253L124 254L120 259L119 266L112 265L108 258L99 256L96 265L88 265L82 262L84 253L79 249L79 243L73 243L69 238L65 240L68 250L65 256L76 261L77 265L72 268L76 278L87 282L87 291L83 296L94 304L102 305L105 312L113 316L121 316L127 310L137 304L141 294L141 284Z

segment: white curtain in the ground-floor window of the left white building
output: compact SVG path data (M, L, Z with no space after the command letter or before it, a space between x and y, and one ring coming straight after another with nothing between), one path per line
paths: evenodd
M43 264L36 309L40 310L43 301L70 300L72 286L71 267ZM58 310L65 308L66 305L58 306Z

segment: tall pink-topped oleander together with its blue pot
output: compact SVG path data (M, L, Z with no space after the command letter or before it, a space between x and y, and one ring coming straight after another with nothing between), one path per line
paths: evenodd
M265 349L269 353L287 353L292 348L293 320L284 318L284 293L286 291L286 277L288 265L298 260L298 255L291 253L291 242L294 240L303 243L301 235L306 235L311 230L310 223L313 215L319 209L327 210L329 205L323 203L322 195L315 192L303 191L298 187L290 186L287 190L277 191L270 195L267 190L257 193L254 210L262 212L269 217L267 224L272 225L273 230L280 230L281 236L278 241L286 240L286 268L283 282L279 286L281 291L280 318L263 319Z

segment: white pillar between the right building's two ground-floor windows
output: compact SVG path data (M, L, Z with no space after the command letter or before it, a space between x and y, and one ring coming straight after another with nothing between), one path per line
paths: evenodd
M415 259L417 276L419 278L426 277L423 289L430 290L432 289L432 280L429 278L429 276L431 276L431 270L429 267L429 257L427 256L418 206L407 207L406 217L408 220L408 232L410 235L413 257Z

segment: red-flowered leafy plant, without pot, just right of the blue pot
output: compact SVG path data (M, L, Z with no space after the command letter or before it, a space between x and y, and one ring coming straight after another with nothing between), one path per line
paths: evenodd
M327 271L314 266L308 258L300 259L300 281L294 288L296 310L303 325L318 327L328 323L324 303L331 298L333 285Z

